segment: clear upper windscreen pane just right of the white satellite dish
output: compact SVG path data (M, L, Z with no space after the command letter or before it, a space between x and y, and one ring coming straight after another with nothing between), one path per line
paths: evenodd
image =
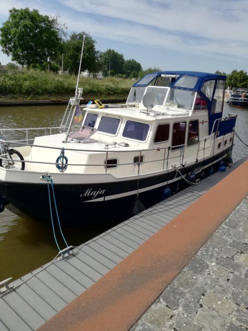
M194 91L170 88L164 106L191 110L195 97Z

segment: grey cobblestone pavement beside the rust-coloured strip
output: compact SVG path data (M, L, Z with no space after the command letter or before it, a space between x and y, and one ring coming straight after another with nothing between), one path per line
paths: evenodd
M248 196L131 331L248 330Z

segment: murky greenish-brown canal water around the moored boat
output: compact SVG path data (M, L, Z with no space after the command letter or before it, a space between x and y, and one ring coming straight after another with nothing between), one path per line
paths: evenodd
M59 126L65 106L0 107L0 128ZM225 103L224 115L238 114L236 131L248 143L248 110ZM234 162L246 157L248 148L235 137ZM77 246L107 228L64 231L69 245ZM0 281L16 279L49 262L57 255L52 228L31 219L18 217L5 209L0 213Z

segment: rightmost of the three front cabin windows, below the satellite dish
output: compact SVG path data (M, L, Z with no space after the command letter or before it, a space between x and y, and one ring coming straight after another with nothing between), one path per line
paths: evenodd
M149 130L149 125L134 121L126 121L123 137L145 141Z

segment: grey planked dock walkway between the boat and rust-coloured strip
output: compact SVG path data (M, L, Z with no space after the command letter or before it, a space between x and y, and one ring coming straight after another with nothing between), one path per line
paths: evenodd
M0 298L0 330L36 330L244 162L215 173L12 282Z

